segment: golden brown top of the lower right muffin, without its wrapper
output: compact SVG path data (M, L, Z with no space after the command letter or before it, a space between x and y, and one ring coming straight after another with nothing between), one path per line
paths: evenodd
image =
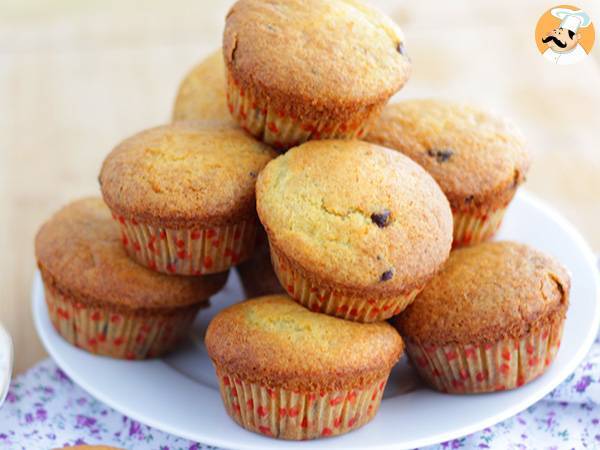
M553 313L564 317L570 278L553 258L516 242L450 254L440 273L396 319L421 343L486 343L521 337Z

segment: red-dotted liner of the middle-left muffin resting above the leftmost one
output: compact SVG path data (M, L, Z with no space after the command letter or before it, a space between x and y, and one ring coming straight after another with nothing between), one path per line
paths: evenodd
M248 259L256 242L257 221L171 230L113 215L130 258L149 269L177 275L224 272Z

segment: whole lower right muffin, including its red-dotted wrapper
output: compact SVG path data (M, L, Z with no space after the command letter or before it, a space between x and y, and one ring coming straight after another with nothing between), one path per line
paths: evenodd
M569 289L567 271L549 256L515 242L488 242L452 252L395 325L435 389L514 389L554 360Z

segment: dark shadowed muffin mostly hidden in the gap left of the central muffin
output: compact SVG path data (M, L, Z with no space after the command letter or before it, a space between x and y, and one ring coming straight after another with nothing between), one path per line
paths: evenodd
M246 298L285 294L285 289L283 289L273 271L269 242L262 229L258 233L256 250L248 260L237 266L236 270L240 276Z

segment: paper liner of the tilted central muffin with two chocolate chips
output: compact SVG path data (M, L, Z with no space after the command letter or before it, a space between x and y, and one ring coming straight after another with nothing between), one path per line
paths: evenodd
M355 322L378 322L400 314L422 290L385 299L350 296L306 278L272 246L271 261L281 285L298 303L311 311Z

